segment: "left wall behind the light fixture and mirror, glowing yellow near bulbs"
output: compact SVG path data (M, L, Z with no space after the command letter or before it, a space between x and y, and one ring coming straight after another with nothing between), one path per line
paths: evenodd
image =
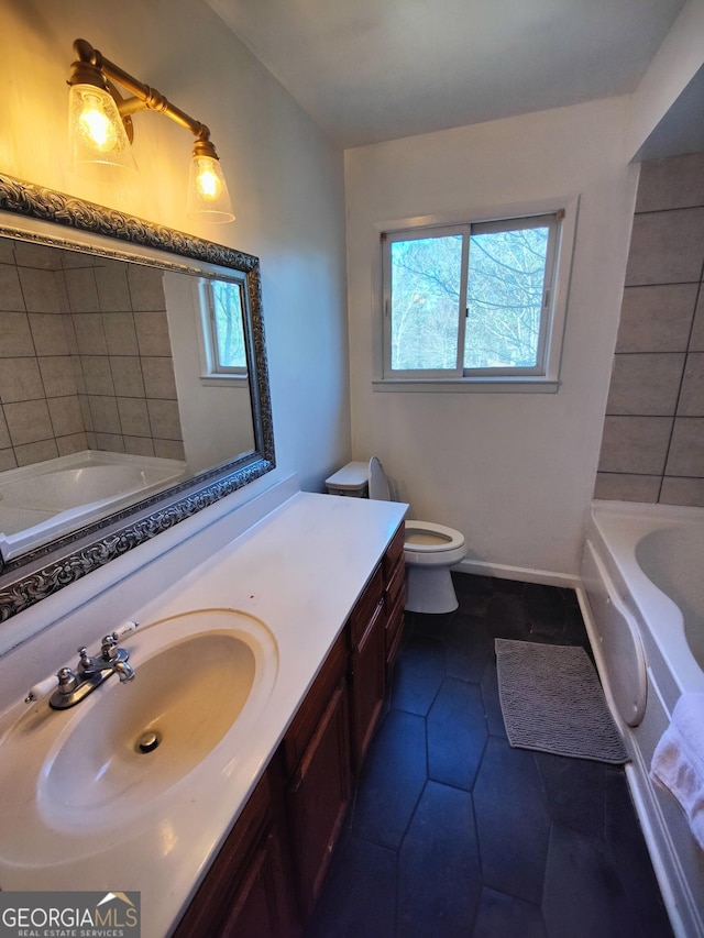
M205 0L0 0L0 172L257 255L277 463L319 484L350 445L341 153ZM77 37L208 124L233 224L186 217L193 137L155 113L134 117L138 175L69 172Z

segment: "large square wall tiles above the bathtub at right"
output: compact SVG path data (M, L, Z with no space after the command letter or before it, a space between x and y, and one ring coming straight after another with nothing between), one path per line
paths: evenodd
M595 497L704 506L704 154L644 163Z

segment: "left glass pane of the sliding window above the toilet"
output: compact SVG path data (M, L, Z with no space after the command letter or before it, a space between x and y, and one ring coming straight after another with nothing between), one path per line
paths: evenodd
M462 235L391 249L392 368L457 368Z

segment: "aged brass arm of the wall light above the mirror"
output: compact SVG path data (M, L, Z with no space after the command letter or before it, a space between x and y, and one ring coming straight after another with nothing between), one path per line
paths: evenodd
M196 146L202 144L206 146L208 156L218 158L215 145L210 140L210 130L206 124L195 120L177 108L175 104L157 91L151 88L143 81L140 81L134 76L130 75L119 65L116 65L110 59L106 58L99 49L94 48L86 40L76 40L74 43L74 52L78 56L77 62L72 66L72 75L69 85L87 84L98 85L106 90L111 90L107 79L117 81L123 88L133 95L132 98L124 100L118 99L118 110L122 118L129 118L131 114L142 110L156 111L160 114L165 114L180 126L189 130L197 137Z

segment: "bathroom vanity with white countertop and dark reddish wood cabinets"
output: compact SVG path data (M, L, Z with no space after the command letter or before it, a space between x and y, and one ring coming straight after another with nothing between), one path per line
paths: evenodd
M37 777L23 777L20 785L15 779L15 820L8 836L3 823L0 837L3 890L136 890L148 938L174 930L257 938L299 933L322 885L400 641L399 526L406 506L301 493L295 477L261 483L258 494L220 500L183 522L178 537L162 533L156 545L131 551L124 564L111 563L109 572L92 573L28 614L42 613L46 628L0 662L7 707L0 762L6 747L16 747L18 732L28 753L40 740L35 726L50 727L52 742L22 765ZM108 576L109 583L102 580ZM103 787L94 788L87 771L73 795L76 807L85 782L95 825L72 826L59 798L47 801L47 786L81 727L99 731L101 695L112 695L110 709L119 714L142 678L148 699L144 684L163 671L154 666L160 660L173 672L167 685L190 693L199 667L210 666L210 652L189 634L188 624L198 624L205 636L224 636L228 616L242 640L249 641L242 624L255 626L256 708L248 702L234 729L206 747L180 777L169 769L163 785L158 765L170 765L166 730L158 749L136 757L144 762L136 763L142 769L135 784L116 785L113 792L108 744ZM50 711L46 698L23 703L18 673L25 693L34 681L74 664L78 644L95 648L125 618L140 622L123 640L133 682L111 678L61 713ZM189 640L194 652L180 659L168 659L158 647L172 654ZM262 684L260 666L266 674ZM195 694L193 708L218 693L224 705L232 688L227 675L220 683L215 692ZM13 700L6 699L8 693ZM84 744L90 739L89 733ZM162 762L151 763L154 776L146 760L160 751ZM111 795L100 810L94 810L96 791Z

